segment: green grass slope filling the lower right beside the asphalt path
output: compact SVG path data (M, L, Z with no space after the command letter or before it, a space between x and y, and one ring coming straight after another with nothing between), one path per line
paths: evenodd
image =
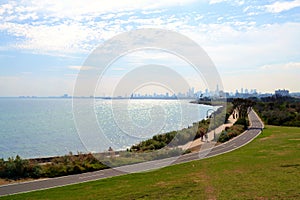
M300 128L267 126L236 151L1 199L300 199Z

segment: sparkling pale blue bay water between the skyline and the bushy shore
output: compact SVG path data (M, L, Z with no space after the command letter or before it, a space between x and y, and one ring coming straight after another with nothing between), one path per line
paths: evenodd
M186 128L212 108L188 100L92 101L93 112L87 113L88 99L74 108L72 99L0 98L0 158L126 149Z

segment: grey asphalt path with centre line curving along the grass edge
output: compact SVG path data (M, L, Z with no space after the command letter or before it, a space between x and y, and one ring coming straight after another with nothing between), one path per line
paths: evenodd
M117 167L114 169L106 169L96 172L70 175L58 178L50 178L45 180L36 180L31 182L17 183L11 185L0 186L0 196L24 193L29 191L43 190L48 188L60 187L64 185L71 185L76 183L82 183L92 180L98 180L103 178L109 178L114 176L120 176L127 173L136 173L148 170L159 169L168 165L189 162L192 160L199 160L202 158L208 158L223 154L229 151L233 151L240 148L249 142L251 142L257 135L261 133L263 129L263 123L256 115L254 111L249 113L249 119L251 126L249 130L245 131L238 137L226 142L222 145L214 146L213 142L202 145L202 149L197 153L190 153L179 157L167 158L162 160L149 161L134 165Z

